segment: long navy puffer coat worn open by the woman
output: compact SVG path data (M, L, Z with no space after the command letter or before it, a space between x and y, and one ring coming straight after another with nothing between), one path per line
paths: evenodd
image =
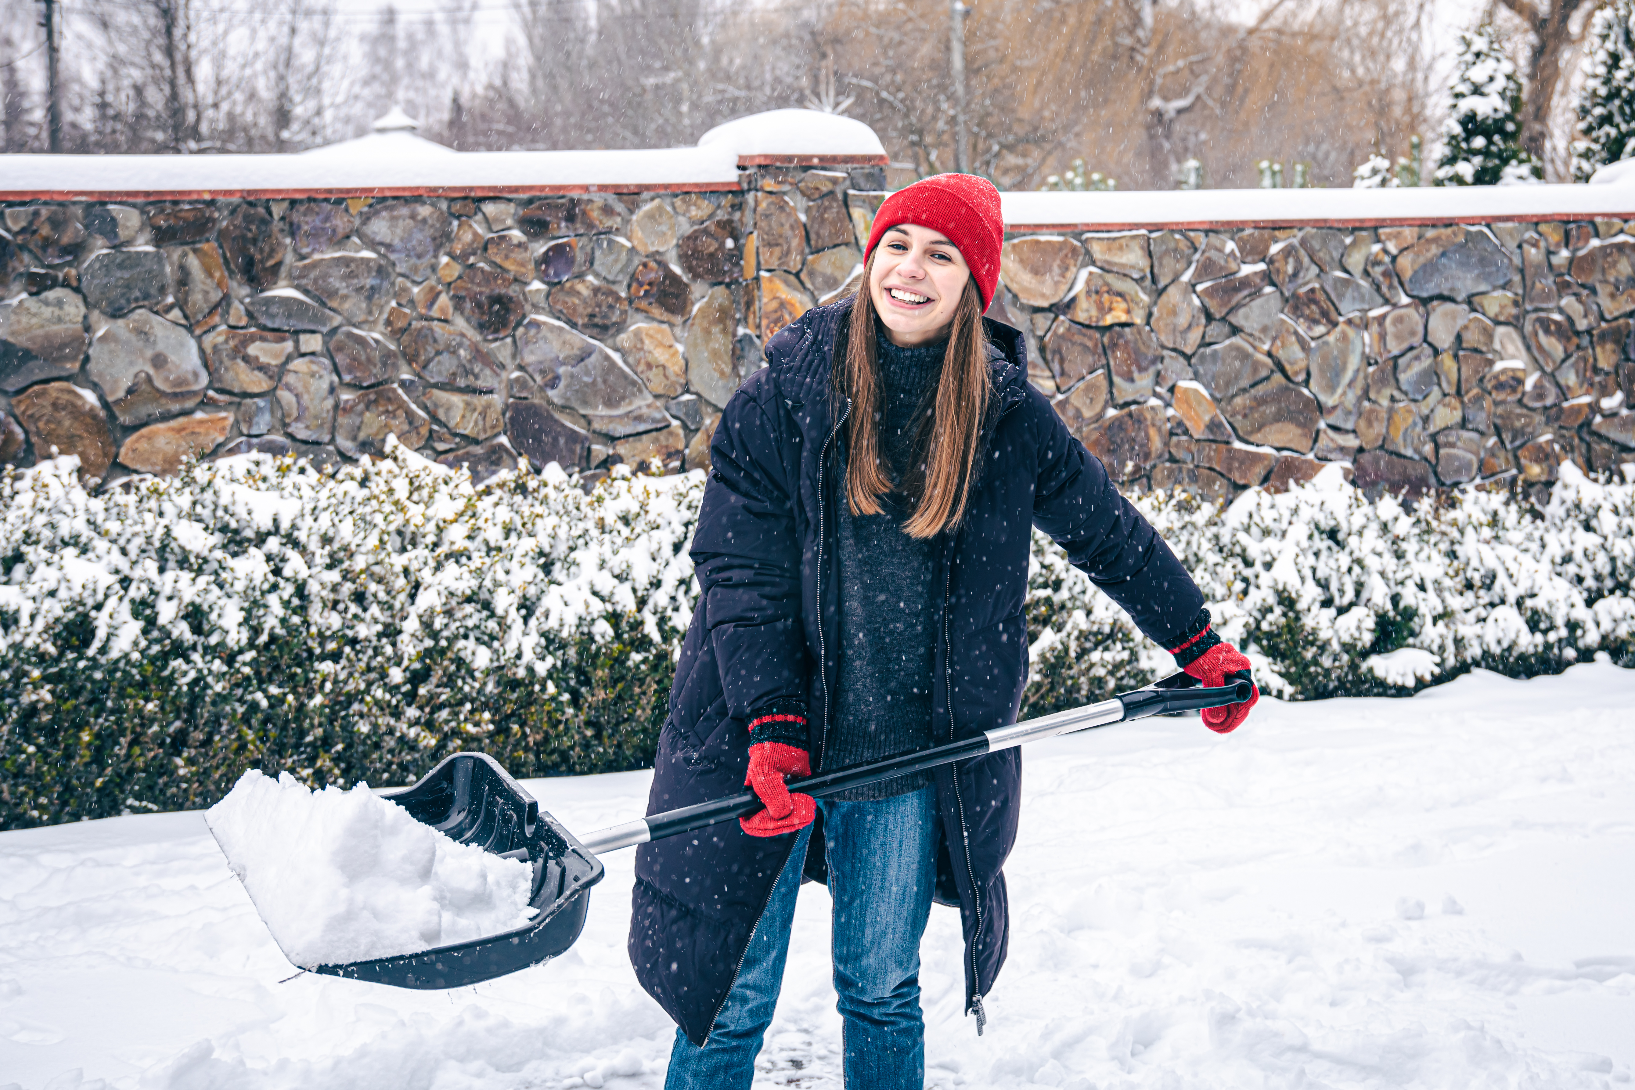
M767 368L732 395L716 427L692 547L701 595L659 735L649 814L742 791L747 724L770 711L809 711L813 766L822 768L839 647L831 538L849 412L832 404L831 364L850 309L850 299L818 307L775 335ZM1028 386L1022 335L984 324L994 407L965 518L940 538L932 595L942 634L937 744L1015 722L1027 681L1032 526L1162 647L1192 634L1203 605L1169 546ZM960 907L966 1012L978 1018L1006 959L1002 866L1015 842L1020 780L1015 748L935 770L937 900ZM726 1002L782 869L826 876L821 830L806 858L791 863L793 843L795 833L759 838L723 822L636 851L629 958L695 1044Z

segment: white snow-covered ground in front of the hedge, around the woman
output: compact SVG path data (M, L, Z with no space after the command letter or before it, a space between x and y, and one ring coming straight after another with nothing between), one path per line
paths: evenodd
M590 830L644 773L531 781ZM925 940L934 1087L1539 1087L1635 1067L1635 672L1478 673L1037 745L1010 961L978 1038ZM0 1087L659 1087L631 855L561 959L456 992L299 976L199 814L0 833ZM801 891L757 1085L839 1087L827 894Z

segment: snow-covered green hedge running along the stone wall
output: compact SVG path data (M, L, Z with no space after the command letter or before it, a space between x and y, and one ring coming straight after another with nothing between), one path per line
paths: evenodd
M1635 654L1635 485L1547 508L1370 503L1329 471L1231 508L1140 505L1262 686L1400 693ZM0 477L0 829L208 806L240 771L409 783L458 748L518 776L651 762L697 588L703 476L464 472L402 449L244 456L90 495ZM1035 541L1024 714L1171 668Z

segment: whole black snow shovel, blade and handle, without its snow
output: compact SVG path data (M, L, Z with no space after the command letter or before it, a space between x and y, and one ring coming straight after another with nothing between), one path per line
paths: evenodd
M1197 681L1176 673L1148 688L1120 693L1099 704L1086 704L994 727L974 739L950 742L917 753L904 753L871 765L791 780L791 791L824 797L911 771L996 753L1024 742L1059 734L1105 727L1146 716L1220 708L1249 699L1249 681L1220 688L1197 688ZM520 928L487 938L437 946L417 954L317 966L312 971L410 989L451 989L479 984L556 958L579 938L590 909L590 887L602 881L598 855L705 829L734 817L749 817L760 799L746 791L713 802L700 802L664 814L574 837L522 784L512 780L487 753L455 753L441 760L420 783L381 797L402 806L427 825L494 855L525 860L533 866L536 915Z

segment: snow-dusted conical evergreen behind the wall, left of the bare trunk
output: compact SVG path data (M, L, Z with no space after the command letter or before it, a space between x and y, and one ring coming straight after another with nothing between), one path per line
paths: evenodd
M1521 142L1516 114L1522 108L1522 85L1516 65L1486 25L1460 34L1452 98L1454 109L1442 129L1437 185L1498 185L1542 176L1539 160Z

